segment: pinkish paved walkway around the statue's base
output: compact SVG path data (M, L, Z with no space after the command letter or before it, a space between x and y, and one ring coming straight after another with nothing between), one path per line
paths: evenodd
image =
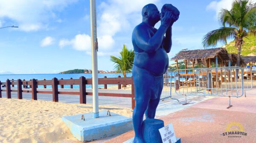
M230 109L227 109L227 97L215 97L198 104L186 105L188 107L159 119L165 125L173 124L175 134L181 138L182 143L256 143L256 87L246 94L247 97L231 98L233 107ZM223 136L228 130L243 130L247 135ZM131 137L134 137L134 131L105 143L123 143Z

